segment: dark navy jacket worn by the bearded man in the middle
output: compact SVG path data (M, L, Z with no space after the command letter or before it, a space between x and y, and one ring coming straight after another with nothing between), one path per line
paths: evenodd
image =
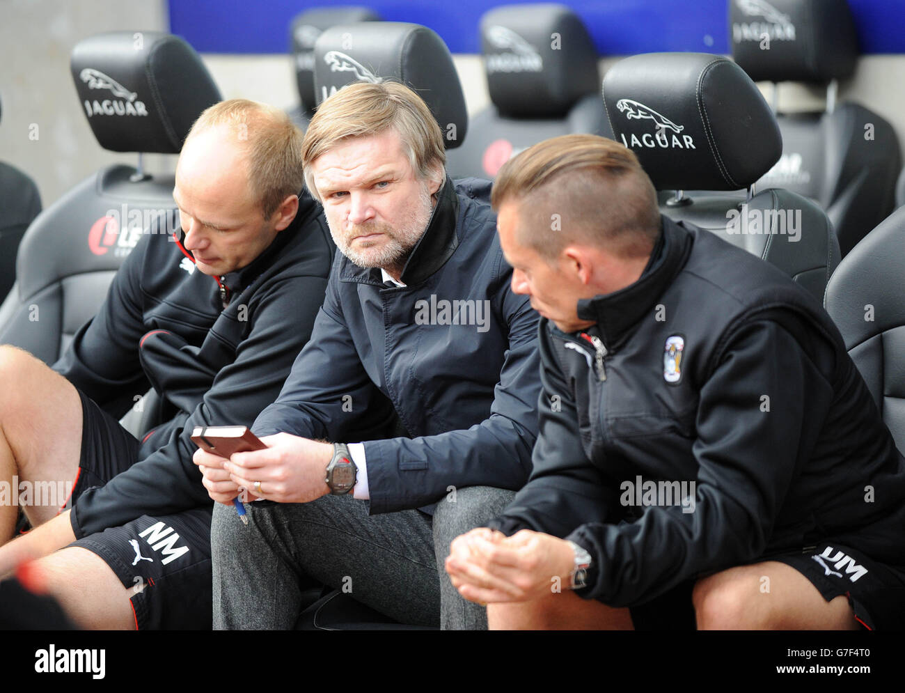
M538 314L510 288L489 188L447 178L405 287L337 254L311 340L254 423L259 436L366 441L372 514L528 479ZM379 439L396 415L413 438Z

